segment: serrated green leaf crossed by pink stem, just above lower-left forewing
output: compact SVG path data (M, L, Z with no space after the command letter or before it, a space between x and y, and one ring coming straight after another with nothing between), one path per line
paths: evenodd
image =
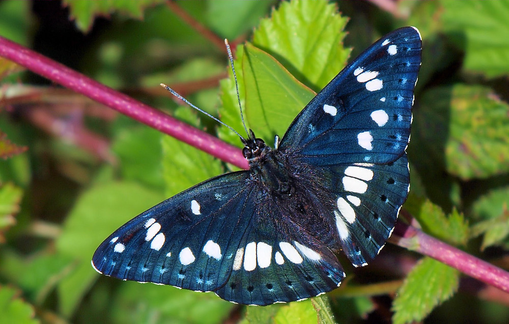
M196 115L188 107L178 109L175 116L197 125ZM163 137L162 148L163 177L169 196L223 173L220 160L172 137Z

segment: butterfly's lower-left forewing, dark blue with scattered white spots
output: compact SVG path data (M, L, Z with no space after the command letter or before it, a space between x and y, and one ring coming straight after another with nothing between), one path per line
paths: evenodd
M104 240L92 264L124 280L217 289L251 222L248 177L247 171L221 175L150 208Z

